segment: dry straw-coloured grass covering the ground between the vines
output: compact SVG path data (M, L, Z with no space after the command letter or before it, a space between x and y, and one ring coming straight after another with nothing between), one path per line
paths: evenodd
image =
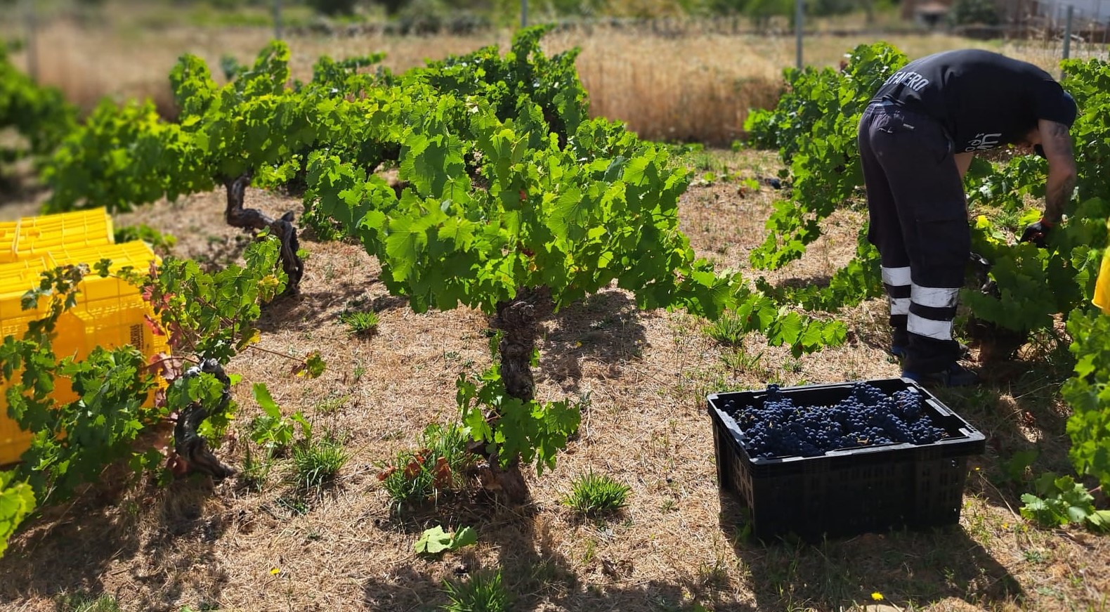
M753 152L690 161L745 177L778 168ZM735 182L692 187L682 201L683 230L700 254L745 268L774 195L767 188L740 193ZM256 190L248 201L271 213L300 207ZM241 234L222 222L222 205L221 193L201 194L117 222L174 233L180 254L221 264L242 248ZM806 260L777 280L829 274L849 257L857 222L840 213ZM749 338L743 350L750 359L739 368L726 361L734 349L704 333L704 321L640 312L625 292L606 290L544 322L538 395L589 391L593 404L557 469L529 475L535 503L450 500L394 516L374 478L377 463L411 447L428 422L454 417L455 378L490 362L486 318L465 309L414 314L387 295L376 262L360 247L302 245L311 253L303 295L266 309L262 345L293 355L319 350L329 370L306 381L289 375L290 362L246 351L231 364L243 375L234 428L259 412L250 383L265 382L286 414L301 410L317 431L347 437L352 460L337 484L291 503L285 460L261 492L201 479L115 498L90 494L49 510L14 540L0 560L0 609L51 611L58 593L83 590L142 611L433 610L446 602L444 579L501 566L517 610L831 612L872 603L876 591L902 610L1106 610L1110 542L1028 526L1011 511L1021 489L1000 479L1002 459L1037 438L1045 451L1037 470L1069 469L1052 392L1058 353L1030 349L1008 379L941 395L991 440L987 454L972 458L959 526L765 546L737 538L737 504L718 493L705 394L768 381L897 375L882 351L885 305L876 300L845 313L854 340L801 359ZM370 339L351 337L339 320L355 300L381 318ZM242 443L231 440L219 453L241 464ZM622 514L583 522L559 504L573 476L588 470L630 486ZM442 560L416 558L420 532L437 523L473 525L480 542Z

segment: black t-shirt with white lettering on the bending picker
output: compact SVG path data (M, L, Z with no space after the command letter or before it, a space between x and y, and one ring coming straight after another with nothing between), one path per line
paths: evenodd
M1076 103L1048 72L978 49L914 60L875 94L936 118L957 152L986 151L1021 140L1048 119L1071 127Z

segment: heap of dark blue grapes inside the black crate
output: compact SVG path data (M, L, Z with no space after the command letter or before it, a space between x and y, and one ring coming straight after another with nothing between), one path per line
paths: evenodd
M777 384L767 385L763 404L724 404L744 432L750 457L817 457L826 451L909 442L929 444L946 435L921 410L914 389L887 395L865 382L831 405L797 407Z

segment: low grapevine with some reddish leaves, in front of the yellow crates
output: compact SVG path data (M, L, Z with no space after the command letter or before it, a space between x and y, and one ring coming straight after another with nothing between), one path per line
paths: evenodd
M169 472L160 466L167 458L148 434L168 439L164 425L171 420L176 421L175 453L168 466L174 473L229 475L232 470L206 445L235 410L229 388L238 377L226 375L222 363L258 340L254 322L260 305L272 300L285 281L279 252L280 242L263 237L248 247L245 268L230 265L215 273L174 258L149 271L114 270L102 260L92 270L81 264L43 272L40 284L24 295L23 307L41 307L46 315L32 321L21 339L8 335L0 343L8 414L33 435L20 464L4 476L6 483L18 484L0 491L0 511L8 511L3 504L18 503L19 514L10 519L0 514L11 521L0 521L0 525L11 525L13 531L29 512L24 500L31 500L32 506L65 500L82 484L100 479L110 465L125 464L131 475L153 471L164 481ZM155 312L147 323L157 333L169 331L173 358L155 354L148 361L131 345L97 347L82 360L54 354L57 322L77 304L79 283L93 273L114 274L142 288ZM201 365L182 373L178 364L183 360ZM307 355L301 367L310 375L320 375L323 365L319 355ZM155 374L169 381L168 389L158 389ZM77 399L56 401L51 394L62 384ZM150 402L152 393L158 399ZM0 532L4 542L10 534Z

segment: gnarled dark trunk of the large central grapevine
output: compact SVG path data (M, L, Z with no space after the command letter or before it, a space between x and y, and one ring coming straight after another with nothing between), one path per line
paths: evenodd
M532 373L532 353L539 338L539 320L551 314L554 308L547 288L526 288L516 292L516 298L497 304L497 315L493 327L502 332L497 352L501 355L501 379L505 392L511 398L528 402L535 398L536 382ZM491 427L496 415L488 414ZM487 472L480 474L486 489L501 491L512 503L526 503L531 499L528 485L521 473L521 463L513 458L504 468L497 453L487 458Z

